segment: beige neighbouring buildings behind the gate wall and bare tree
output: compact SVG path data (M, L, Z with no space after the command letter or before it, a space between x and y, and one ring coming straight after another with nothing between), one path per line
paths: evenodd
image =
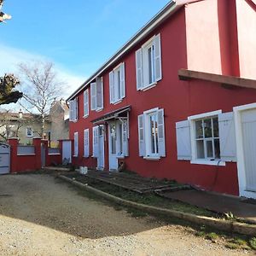
M43 138L48 139L50 146L57 145L59 139L68 138L68 107L61 100L52 103L45 119ZM37 114L0 113L0 140L5 142L9 137L19 137L20 144L32 144L33 137L40 137L41 122Z

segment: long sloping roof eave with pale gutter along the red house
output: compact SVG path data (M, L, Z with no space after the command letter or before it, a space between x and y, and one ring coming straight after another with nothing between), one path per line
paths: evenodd
M67 101L72 100L73 97L77 96L81 90L90 84L96 77L99 77L108 67L113 65L118 61L127 50L131 49L133 46L138 44L146 38L150 32L152 32L157 26L160 26L167 18L177 12L178 9L183 7L186 3L198 2L201 0L172 0L170 3L167 3L166 6L160 10L157 15L148 21L148 23L143 26L123 47L121 47L107 62L105 62L102 67L100 67L96 73L93 73L89 79L87 79L84 84L82 84L77 90L73 92L71 96L67 98Z

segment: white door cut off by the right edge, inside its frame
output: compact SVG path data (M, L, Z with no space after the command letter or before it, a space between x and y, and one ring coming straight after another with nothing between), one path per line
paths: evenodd
M241 130L246 189L256 192L256 108L241 112Z

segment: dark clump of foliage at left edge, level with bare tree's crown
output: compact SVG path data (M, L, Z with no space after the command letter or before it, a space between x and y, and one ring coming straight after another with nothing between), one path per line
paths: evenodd
M14 90L20 80L14 74L5 74L0 77L0 105L17 102L22 97L22 92Z

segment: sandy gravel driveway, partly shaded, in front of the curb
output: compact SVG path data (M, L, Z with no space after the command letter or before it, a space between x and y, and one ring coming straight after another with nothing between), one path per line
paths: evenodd
M47 175L0 176L0 255L244 255L132 218ZM247 253L247 255L253 253Z

